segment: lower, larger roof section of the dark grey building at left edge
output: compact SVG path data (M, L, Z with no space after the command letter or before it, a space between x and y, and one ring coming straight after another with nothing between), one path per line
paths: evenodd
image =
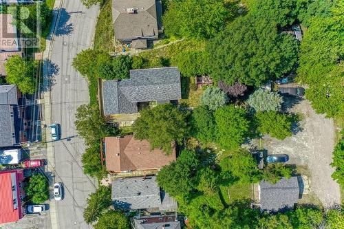
M0 147L16 144L14 133L13 107L0 105Z

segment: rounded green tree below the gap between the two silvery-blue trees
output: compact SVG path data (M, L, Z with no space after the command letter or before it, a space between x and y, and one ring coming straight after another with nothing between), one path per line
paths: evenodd
M220 107L215 111L216 142L226 149L236 149L248 135L250 122L246 111L234 105Z

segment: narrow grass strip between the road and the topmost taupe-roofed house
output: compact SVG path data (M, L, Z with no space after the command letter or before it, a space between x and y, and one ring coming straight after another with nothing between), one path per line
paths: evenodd
M115 51L114 25L112 24L111 2L105 1L101 6L94 37L94 50Z

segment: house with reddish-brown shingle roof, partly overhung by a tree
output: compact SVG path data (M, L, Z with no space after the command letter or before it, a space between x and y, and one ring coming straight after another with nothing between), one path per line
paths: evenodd
M107 171L114 173L158 170L175 161L175 147L170 155L165 155L160 149L151 150L147 140L136 140L133 135L106 137L103 150Z

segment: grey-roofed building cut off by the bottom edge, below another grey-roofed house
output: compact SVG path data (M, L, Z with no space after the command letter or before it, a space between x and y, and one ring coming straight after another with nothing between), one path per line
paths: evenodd
M175 215L147 215L131 219L134 229L180 229Z

